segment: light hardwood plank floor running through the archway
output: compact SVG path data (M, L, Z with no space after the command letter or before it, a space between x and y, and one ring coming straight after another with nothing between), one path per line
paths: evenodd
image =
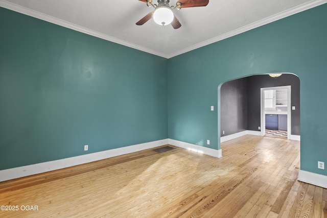
M2 182L0 205L18 210L0 217L327 217L327 189L297 181L298 141L247 135L221 148L219 159L146 150Z

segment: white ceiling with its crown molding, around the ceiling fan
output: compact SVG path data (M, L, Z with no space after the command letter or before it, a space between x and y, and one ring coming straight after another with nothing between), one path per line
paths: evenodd
M136 26L153 11L138 0L0 0L1 7L165 58L324 3L327 0L210 0L206 7L175 9L182 26L174 30L152 19Z

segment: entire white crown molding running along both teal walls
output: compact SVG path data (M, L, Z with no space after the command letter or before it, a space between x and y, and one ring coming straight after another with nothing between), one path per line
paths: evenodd
M102 34L102 33L99 33L99 32L93 31L93 30L89 30L89 29L84 28L84 27L80 27L80 26L75 25L75 24L73 24L71 22L67 22L67 21L64 21L64 20L49 16L49 15L43 14L43 13L40 13L40 12L37 12L37 11L33 11L31 9L28 9L28 8L25 8L25 7L22 7L22 6L18 6L18 5L13 4L13 3L5 2L3 0L0 1L0 7L7 8L9 10L13 10L13 11L16 11L16 12L19 12L19 13L22 13L22 14L26 14L26 15L29 15L29 16L32 16L32 17L35 17L35 18L38 18L38 19L41 19L41 20L45 20L45 21L48 21L48 22L51 22L51 23L55 23L56 25L59 25L59 26L62 26L62 27L66 27L66 28L76 30L76 31L79 31L79 32L82 32L82 33L85 33L85 34L88 34L88 35L91 35L91 36L95 36L95 37L102 38L102 39L105 39L105 40L108 40L108 41L112 41L112 42L115 42L115 43L118 43L118 44L122 44L122 45L125 45L125 46L128 46L128 47L132 47L133 49L136 49L136 50L140 50L140 51L143 51L143 52L147 52L147 53L150 53L150 54L153 54L153 55L157 55L157 56L169 59L169 58L175 57L177 55L180 55L180 54L183 54L183 53L190 52L192 50L198 49L199 47L203 47L205 45L212 44L214 42L218 42L218 41L221 41L223 39L226 39L226 38L229 38L229 37L232 37L232 36L236 36L238 34L246 32L246 31L249 31L249 30L264 26L264 25L266 25L268 23L271 23L271 22L274 22L276 20L291 16L293 14L296 14L296 13L299 13L299 12L302 12L302 11L317 7L317 6L325 4L325 3L327 3L327 0L310 1L308 3L299 5L297 7L291 8L291 9L283 11L281 13L277 13L277 14L272 15L270 17L267 17L265 19L253 22L253 23L251 23L251 24L249 24L247 26L241 27L239 29L230 31L230 32L222 34L220 36L216 36L214 38L211 38L211 39L208 39L206 41L200 42L198 44L186 47L185 49L179 50L179 51L177 51L175 53L172 53L172 54L164 54L164 53L161 53L161 52L158 52L158 51L154 51L154 50L148 49L148 48L143 47L143 46L139 46L139 45L136 45L136 44L133 44L133 43L130 43L130 42L118 39L118 38L114 38L114 37L109 36L109 35L105 35L105 34Z

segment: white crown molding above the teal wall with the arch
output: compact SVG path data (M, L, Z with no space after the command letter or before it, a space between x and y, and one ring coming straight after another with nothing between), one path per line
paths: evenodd
M232 36L236 36L238 34L246 32L246 31L249 31L249 30L264 26L264 25L266 25L268 23L274 22L274 21L279 20L279 19L283 19L285 17L288 17L288 16L291 16L293 14L296 14L296 13L299 13L299 12L302 12L302 11L317 7L319 5L323 5L325 3L327 3L327 0L313 0L313 1L309 2L309 3L299 5L297 7L291 8L291 9L283 11L281 13L277 13L277 14L274 14L272 16L269 16L269 17L267 17L265 19L250 23L249 25L241 27L239 29L230 31L230 32L222 34L220 36L216 36L214 38L211 38L211 39L208 39L206 41L200 42L198 44L186 47L183 50L179 50L176 53L168 55L168 58L172 58L172 57L175 57L177 55L181 55L181 54L184 54L186 52L190 52L192 50L199 49L200 47L203 47L205 45L212 44L212 43L221 41L223 39L226 39L226 38L229 38L229 37L232 37Z

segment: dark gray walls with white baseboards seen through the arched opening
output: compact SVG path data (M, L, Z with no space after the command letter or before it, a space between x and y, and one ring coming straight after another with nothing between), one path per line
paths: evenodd
M224 142L246 134L262 135L262 88L290 86L288 131L290 139L300 140L300 81L290 73L272 78L268 74L252 75L226 81L218 87L218 139ZM277 104L282 104L278 103ZM285 104L285 103L284 103ZM275 105L276 106L276 103ZM281 106L281 105L279 105ZM281 113L281 107L276 107ZM284 110L283 109L283 110ZM264 122L265 123L265 122ZM219 144L220 149L220 144Z

